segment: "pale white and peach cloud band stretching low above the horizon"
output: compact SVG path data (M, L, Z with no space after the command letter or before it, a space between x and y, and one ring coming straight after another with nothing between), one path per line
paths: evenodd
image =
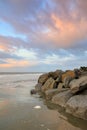
M17 53L18 52L18 53ZM3 52L4 54L5 52ZM17 53L17 54L16 54ZM1 57L0 70L12 70L15 71L52 71L56 69L73 69L78 68L81 65L87 65L86 51L77 52L77 55L71 50L59 49L57 52L35 52L25 49L15 51L14 55L8 55L7 57ZM13 57L12 57L13 56Z

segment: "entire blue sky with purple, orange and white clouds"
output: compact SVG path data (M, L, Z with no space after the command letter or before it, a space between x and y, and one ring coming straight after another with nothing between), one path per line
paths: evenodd
M87 66L87 0L0 0L0 72Z

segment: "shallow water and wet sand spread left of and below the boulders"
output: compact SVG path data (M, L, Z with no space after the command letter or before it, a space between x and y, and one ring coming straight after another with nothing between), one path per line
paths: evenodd
M30 95L39 75L0 75L0 130L87 130L87 121Z

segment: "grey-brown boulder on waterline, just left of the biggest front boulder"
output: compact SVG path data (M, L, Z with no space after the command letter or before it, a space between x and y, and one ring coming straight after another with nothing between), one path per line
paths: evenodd
M58 104L62 107L66 106L66 102L72 97L72 93L70 92L70 90L68 91L64 91L64 92L60 92L57 95L55 95L52 98L52 103L54 104Z

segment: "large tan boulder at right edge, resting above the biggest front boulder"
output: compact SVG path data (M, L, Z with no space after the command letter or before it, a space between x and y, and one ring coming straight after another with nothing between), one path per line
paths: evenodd
M82 76L79 79L72 80L69 84L71 92L77 93L87 88L87 76Z

